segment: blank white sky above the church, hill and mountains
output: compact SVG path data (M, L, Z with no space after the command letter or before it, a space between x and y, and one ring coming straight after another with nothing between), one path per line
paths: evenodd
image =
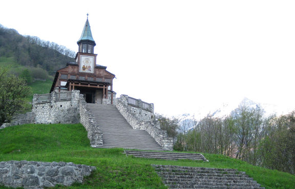
M77 51L89 13L114 90L165 115L247 97L295 109L295 1L2 1L0 24ZM66 64L66 63L65 63Z

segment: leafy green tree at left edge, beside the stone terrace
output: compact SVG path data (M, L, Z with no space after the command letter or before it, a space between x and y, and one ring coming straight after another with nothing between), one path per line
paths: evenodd
M25 98L31 93L23 78L8 74L0 68L0 125L9 122L14 113L24 108Z

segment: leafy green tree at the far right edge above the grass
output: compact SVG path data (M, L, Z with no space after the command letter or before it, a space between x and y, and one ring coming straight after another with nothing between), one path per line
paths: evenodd
M261 165L295 174L295 111L269 117L263 131Z

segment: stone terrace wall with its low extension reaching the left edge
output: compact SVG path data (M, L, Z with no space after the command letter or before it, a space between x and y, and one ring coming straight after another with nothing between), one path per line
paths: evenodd
M79 123L79 90L35 94L32 111L17 114L0 129L23 124L75 124Z

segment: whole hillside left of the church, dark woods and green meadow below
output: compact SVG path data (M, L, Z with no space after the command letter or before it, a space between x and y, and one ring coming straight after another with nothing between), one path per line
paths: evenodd
M35 93L48 93L54 72L74 61L75 53L65 46L43 41L38 37L22 36L14 29L0 25L0 67L27 80L32 93L26 99L25 110L31 111Z

